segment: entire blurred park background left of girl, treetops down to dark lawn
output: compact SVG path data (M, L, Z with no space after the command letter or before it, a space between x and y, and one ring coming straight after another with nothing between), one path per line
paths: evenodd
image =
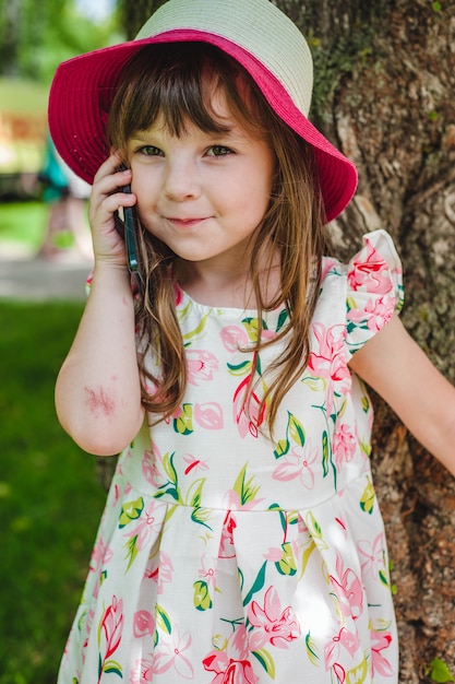
M92 264L47 97L58 63L119 25L115 0L0 0L0 684L56 682L105 499L53 410Z

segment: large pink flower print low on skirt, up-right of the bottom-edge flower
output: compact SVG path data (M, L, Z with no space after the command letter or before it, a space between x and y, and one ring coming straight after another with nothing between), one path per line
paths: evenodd
M277 648L287 648L287 642L298 639L300 624L292 608L283 609L274 587L268 587L264 597L264 606L252 601L248 610L248 620L253 630L249 635L250 649L260 650L266 644Z

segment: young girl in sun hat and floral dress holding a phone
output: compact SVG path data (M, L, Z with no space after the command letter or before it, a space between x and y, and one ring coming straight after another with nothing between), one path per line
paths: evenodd
M397 682L360 378L452 471L455 390L397 318L388 235L325 256L356 169L308 121L311 83L268 0L170 0L56 74L95 252L57 411L122 451L60 684Z

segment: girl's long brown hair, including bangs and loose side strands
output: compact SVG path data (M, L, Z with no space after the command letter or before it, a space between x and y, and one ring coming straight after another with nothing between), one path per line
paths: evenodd
M316 304L321 261L328 248L324 210L312 149L275 114L249 74L230 57L203 43L148 46L136 52L119 78L108 120L110 144L125 154L133 133L149 128L163 116L169 131L180 135L191 121L204 132L225 129L211 108L213 84L224 90L235 119L261 139L267 140L276 156L271 202L253 234L251 282L258 306L260 352L277 339L284 351L268 367L270 384L262 398L272 431L280 401L308 363L310 325ZM212 87L211 87L212 86ZM140 226L140 260L145 281L136 322L159 358L159 377L146 370L142 401L147 411L169 416L180 405L187 387L187 365L177 320L173 252ZM272 246L272 249L271 249ZM260 278L264 256L278 250L280 290L265 300ZM288 321L278 335L261 340L263 312L285 305ZM251 351L249 347L248 351ZM253 355L258 358L258 353ZM254 373L252 373L252 378ZM253 390L251 381L249 392ZM248 399L246 402L248 406Z

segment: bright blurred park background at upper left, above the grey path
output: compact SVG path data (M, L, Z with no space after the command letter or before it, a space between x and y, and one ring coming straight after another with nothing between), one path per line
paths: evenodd
M0 252L89 258L88 189L47 137L47 97L60 61L124 38L116 0L0 0ZM75 186L75 187L73 187ZM86 227L86 226L85 226ZM68 255L67 255L68 256Z

